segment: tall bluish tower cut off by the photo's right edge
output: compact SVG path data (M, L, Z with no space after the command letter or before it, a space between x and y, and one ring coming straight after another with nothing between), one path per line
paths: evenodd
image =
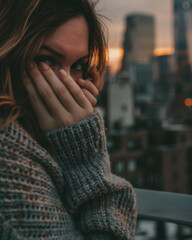
M192 1L174 0L175 57L179 80L191 81L192 64Z

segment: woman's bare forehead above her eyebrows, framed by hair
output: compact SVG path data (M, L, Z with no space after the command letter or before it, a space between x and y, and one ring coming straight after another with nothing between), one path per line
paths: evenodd
M88 52L89 29L83 16L75 17L61 24L44 41L55 50Z

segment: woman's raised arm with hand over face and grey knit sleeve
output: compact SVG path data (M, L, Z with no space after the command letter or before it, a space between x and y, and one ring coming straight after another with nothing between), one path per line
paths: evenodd
M60 79L50 68L40 72L35 65L28 74L24 84L62 168L62 199L78 229L92 239L100 235L103 239L133 239L135 196L127 181L111 173L100 113L93 114L94 104L82 86L63 70Z

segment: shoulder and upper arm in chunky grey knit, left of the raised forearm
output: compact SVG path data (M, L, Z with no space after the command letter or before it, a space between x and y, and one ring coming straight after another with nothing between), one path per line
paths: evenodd
M0 240L83 240L62 189L58 164L18 123L0 131Z

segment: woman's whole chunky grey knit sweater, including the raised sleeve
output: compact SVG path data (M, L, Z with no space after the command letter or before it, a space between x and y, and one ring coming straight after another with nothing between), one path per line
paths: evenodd
M134 191L111 173L100 110L45 137L54 156L17 121L0 132L0 239L133 239Z

